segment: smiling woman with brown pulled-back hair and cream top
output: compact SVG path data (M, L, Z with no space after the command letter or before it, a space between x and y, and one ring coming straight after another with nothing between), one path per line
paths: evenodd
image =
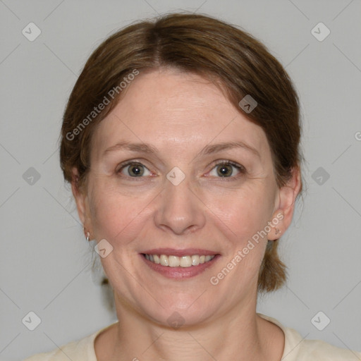
M256 313L302 190L298 96L219 20L173 14L90 56L61 168L114 289L118 322L28 360L355 360Z

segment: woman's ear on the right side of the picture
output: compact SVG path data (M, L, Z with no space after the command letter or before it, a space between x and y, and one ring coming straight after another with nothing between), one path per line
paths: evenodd
M300 168L295 167L292 170L292 177L286 185L279 189L278 201L276 202L276 210L271 219L271 231L269 231L267 239L277 240L290 226L295 209L295 200L301 189ZM280 233L276 233L276 228Z

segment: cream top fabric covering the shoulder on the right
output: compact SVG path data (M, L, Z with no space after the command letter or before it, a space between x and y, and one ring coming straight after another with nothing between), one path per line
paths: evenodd
M321 340L306 340L295 331L283 326L276 319L258 314L280 327L285 335L285 345L281 360L284 361L361 361L361 353L356 351L338 348Z

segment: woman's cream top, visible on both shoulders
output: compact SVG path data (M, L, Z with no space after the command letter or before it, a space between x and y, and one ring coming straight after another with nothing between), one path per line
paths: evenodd
M361 360L361 353L337 348L324 341L304 340L294 329L289 329L280 324L276 319L258 314L279 326L285 334L285 347L281 360L283 361L357 361ZM109 326L104 327L107 329ZM39 353L24 361L97 361L94 351L94 340L101 329L94 334L63 345L60 349L50 353Z

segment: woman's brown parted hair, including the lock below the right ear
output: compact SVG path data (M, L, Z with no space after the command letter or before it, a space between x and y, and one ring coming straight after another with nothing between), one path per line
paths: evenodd
M279 187L290 180L293 169L300 169L299 100L281 63L238 27L209 16L175 13L119 30L87 60L63 116L60 156L66 181L73 181L75 167L79 174L75 181L86 188L94 127L120 99L121 81L132 73L163 67L215 80L235 108L263 128ZM118 91L110 97L111 90ZM239 106L246 95L257 101L250 113ZM106 106L94 114L99 104ZM286 281L277 246L277 241L267 245L259 271L261 291L276 290Z

